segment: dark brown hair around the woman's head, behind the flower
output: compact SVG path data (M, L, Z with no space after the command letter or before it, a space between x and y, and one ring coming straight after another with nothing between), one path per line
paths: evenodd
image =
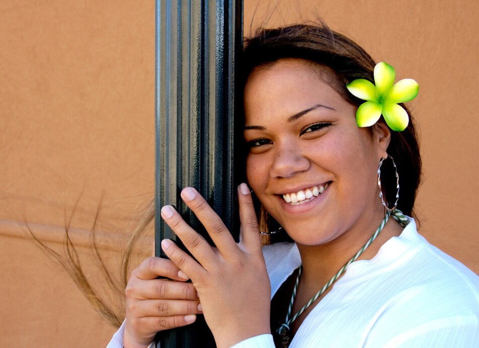
M331 72L331 86L346 101L359 106L364 102L348 92L346 84L355 79L367 79L374 83L372 57L358 44L339 34L324 23L318 25L295 24L276 29L259 29L245 40L243 71L241 76L248 79L255 68L269 67L281 59L302 59L326 67ZM401 106L409 115L409 124L402 132L391 130L391 141L387 152L397 165L400 194L397 208L413 216L414 201L421 183L421 155L411 112ZM394 167L386 161L381 167L381 181L384 194L393 203L396 196ZM379 163L378 163L379 164ZM274 220L261 207L260 225L270 230L276 228Z

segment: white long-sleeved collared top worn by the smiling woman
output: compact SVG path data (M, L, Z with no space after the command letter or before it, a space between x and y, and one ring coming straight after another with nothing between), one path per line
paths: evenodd
M273 297L301 257L294 243L265 246L263 254ZM124 325L108 348L122 347ZM270 334L234 345L273 347ZM373 259L348 266L289 347L478 348L479 277L418 235L411 218Z

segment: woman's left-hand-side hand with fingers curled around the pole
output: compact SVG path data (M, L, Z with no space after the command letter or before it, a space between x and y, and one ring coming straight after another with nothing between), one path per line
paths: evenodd
M196 320L200 302L195 287L186 280L188 276L173 262L159 257L146 259L132 272L125 290L125 348L147 347L156 332Z

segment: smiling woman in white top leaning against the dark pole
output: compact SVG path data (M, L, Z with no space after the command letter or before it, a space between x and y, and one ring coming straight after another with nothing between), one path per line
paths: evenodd
M414 93L397 98L404 86L391 89L394 70L375 66L325 26L247 40L241 242L194 188L184 189L217 248L163 207L197 261L163 241L170 260L135 269L126 320L109 347L147 347L157 331L197 314L218 347L479 346L479 278L402 214L413 215L421 158L411 115L397 102ZM281 227L293 242L262 247L258 226Z

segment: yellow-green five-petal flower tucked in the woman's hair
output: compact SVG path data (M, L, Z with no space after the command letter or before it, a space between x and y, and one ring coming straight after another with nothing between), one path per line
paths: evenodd
M404 79L394 84L396 72L385 62L374 67L374 85L366 79L357 79L346 85L354 96L366 100L356 111L358 127L369 127L378 122L381 114L389 128L403 131L409 123L406 110L398 103L414 99L419 85L412 79Z

